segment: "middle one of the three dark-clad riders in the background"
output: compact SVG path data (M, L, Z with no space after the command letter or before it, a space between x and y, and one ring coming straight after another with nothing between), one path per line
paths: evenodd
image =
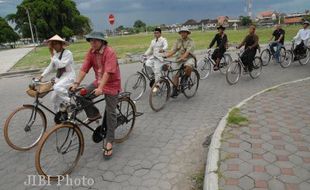
M256 27L251 25L249 27L249 34L244 38L242 43L237 46L240 49L244 46L245 51L241 55L242 63L245 65L245 72L251 72L253 70L253 61L256 55L256 51L259 48L259 38L255 34Z

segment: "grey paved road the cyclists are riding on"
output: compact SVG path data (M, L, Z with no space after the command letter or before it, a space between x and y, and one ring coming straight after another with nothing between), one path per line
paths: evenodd
M123 78L138 68L137 64L122 65ZM93 143L91 134L85 131L85 152L71 177L84 175L95 179L92 189L190 189L192 174L204 169L206 148L202 144L228 108L262 89L309 75L310 65L295 63L282 69L271 64L263 69L260 78L244 76L237 85L229 86L223 75L213 73L208 80L201 81L194 98L187 100L180 95L159 113L151 111L146 95L137 103L144 115L137 119L129 140L115 146L113 159L105 161L101 144ZM15 107L32 102L24 93L30 78L0 80L1 124ZM0 188L34 189L23 185L27 175L37 174L34 151L11 150L4 142L2 130L0 133ZM86 189L60 187L72 188Z

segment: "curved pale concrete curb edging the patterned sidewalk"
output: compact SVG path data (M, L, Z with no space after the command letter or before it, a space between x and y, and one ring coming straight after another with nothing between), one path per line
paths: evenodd
M237 104L236 106L229 109L227 114L220 120L220 122L219 122L218 126L216 127L215 132L212 136L211 144L210 144L209 151L208 151L207 163L206 163L206 167L205 167L205 178L204 178L204 185L203 185L204 190L218 190L219 189L218 188L218 175L217 175L219 151L220 151L220 147L221 147L222 133L226 127L227 117L228 117L229 112L234 108L240 108L241 106L246 104L249 100L251 100L254 97L261 95L261 94L263 94L269 90L278 88L280 86L284 86L284 85L288 85L288 84L294 84L294 83L298 83L298 82L302 82L302 81L306 81L306 80L310 80L310 77L306 77L303 79L298 79L298 80L294 80L294 81L290 81L290 82L281 83L281 84L275 85L273 87L267 88L265 90L262 90L256 94L250 96L249 98L244 99L239 104Z

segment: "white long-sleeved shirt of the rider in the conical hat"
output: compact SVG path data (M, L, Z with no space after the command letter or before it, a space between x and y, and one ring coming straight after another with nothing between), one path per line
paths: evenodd
M61 68L66 68L66 72L62 74L60 77L62 78L68 78L68 79L75 79L75 71L73 68L73 55L70 50L64 50L62 54L61 60L59 60L61 52L56 52L54 56L51 58L50 64L47 66L47 68L44 70L42 76L46 76L49 74L52 70L57 70Z

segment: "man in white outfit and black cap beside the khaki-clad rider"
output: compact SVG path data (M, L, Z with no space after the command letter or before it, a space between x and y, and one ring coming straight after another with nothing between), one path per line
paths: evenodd
M155 28L155 39L152 40L149 49L144 53L145 56L150 56L146 61L146 66L152 68L155 74L155 81L161 77L161 68L163 66L163 53L168 49L166 38L161 36L161 29Z

